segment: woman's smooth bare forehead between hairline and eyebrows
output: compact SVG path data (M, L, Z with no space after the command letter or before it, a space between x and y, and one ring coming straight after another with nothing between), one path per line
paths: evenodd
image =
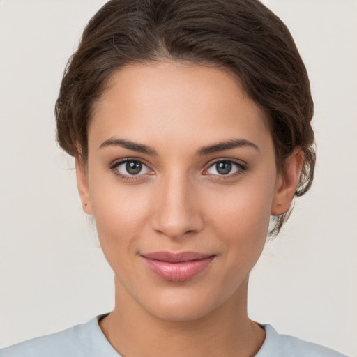
M94 107L89 142L116 136L197 146L228 137L270 139L265 112L233 75L177 62L133 64L112 75Z

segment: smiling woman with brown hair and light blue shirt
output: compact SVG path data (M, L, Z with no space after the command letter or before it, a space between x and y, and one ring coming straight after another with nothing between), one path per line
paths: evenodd
M109 1L56 102L110 314L0 356L342 356L248 318L252 267L314 172L310 84L258 1Z

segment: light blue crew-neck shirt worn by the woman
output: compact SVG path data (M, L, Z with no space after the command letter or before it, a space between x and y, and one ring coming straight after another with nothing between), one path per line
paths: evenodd
M121 357L98 325L103 316L59 333L0 349L0 357ZM266 338L255 357L347 357L319 344L279 335L271 325L262 326Z

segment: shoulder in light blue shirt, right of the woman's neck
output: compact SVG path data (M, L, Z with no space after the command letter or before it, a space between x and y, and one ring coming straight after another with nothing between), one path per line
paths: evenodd
M256 357L347 357L320 344L280 335L271 325L263 326L266 340Z

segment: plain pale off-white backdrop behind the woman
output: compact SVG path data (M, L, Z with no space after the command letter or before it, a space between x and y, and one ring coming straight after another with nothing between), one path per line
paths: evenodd
M103 0L0 0L0 346L112 309L113 278L54 142L68 56ZM250 283L250 317L357 356L357 1L266 0L312 82L317 169Z

